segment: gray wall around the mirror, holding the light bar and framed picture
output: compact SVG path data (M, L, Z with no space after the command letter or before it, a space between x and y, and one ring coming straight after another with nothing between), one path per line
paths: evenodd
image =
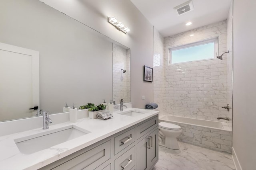
M143 66L153 67L153 26L130 0L41 1L130 48L132 106L145 108L153 101L153 83L143 81ZM115 29L108 16L115 16L130 32Z

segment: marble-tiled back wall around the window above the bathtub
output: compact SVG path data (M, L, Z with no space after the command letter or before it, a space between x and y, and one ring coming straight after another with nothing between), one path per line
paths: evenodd
M189 35L194 34L193 37ZM164 38L164 113L217 121L227 117L226 59L168 64L168 49L219 38L219 53L226 51L227 21L220 21ZM224 120L220 120L224 121Z

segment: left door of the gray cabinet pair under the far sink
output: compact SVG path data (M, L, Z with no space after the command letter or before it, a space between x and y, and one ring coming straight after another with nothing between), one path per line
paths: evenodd
M146 170L148 168L147 147L149 139L146 137L137 144L137 170Z

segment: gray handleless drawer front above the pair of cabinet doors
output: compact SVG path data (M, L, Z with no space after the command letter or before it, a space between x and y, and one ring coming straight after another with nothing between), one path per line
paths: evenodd
M137 139L158 126L158 116L137 126Z

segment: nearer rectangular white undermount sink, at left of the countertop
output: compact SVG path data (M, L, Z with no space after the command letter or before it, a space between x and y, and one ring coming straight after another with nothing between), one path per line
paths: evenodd
M15 139L14 141L21 153L32 154L88 133L90 133L90 131L86 131L74 125L69 125L66 127L53 129L52 131L46 131Z

